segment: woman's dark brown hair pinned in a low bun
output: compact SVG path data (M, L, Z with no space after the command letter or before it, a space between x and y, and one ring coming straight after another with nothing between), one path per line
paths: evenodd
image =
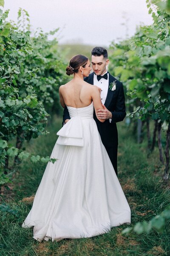
M68 76L78 73L79 67L85 67L88 62L88 58L85 55L78 54L71 58L69 65L66 68L66 74Z

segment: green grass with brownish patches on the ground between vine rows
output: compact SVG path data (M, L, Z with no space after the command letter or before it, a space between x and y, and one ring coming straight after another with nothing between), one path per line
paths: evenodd
M50 134L26 143L28 151L50 155L56 142L56 132L61 119L55 119L48 127ZM163 168L159 163L158 149L146 157L146 143L138 145L132 131L119 123L118 174L132 212L132 224L150 220L170 204L170 189L162 183ZM59 242L38 241L32 238L32 229L21 224L31 209L31 201L22 201L37 191L46 164L25 162L19 166L11 191L4 190L2 202L16 208L20 219L11 220L7 215L0 220L0 256L151 256L170 255L170 224L162 233L153 230L140 236L134 233L122 236L127 225L112 228L104 235L89 239L64 239ZM31 199L31 198L30 198ZM1 216L0 216L1 218Z

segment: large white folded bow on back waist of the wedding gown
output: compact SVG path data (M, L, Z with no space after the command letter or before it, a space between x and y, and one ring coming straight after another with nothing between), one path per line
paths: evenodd
M84 146L82 134L82 120L79 116L72 117L58 132L57 144L70 146Z

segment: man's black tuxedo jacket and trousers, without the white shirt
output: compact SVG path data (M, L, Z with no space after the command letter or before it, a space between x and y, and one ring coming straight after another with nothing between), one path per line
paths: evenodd
M94 84L94 73L91 73L85 78L85 81L89 84ZM110 84L116 82L116 90L112 91L109 89ZM105 122L100 122L94 111L94 120L96 121L99 134L102 139L102 143L105 146L108 155L111 159L115 172L117 174L117 147L118 147L118 134L116 122L120 122L125 118L125 95L123 91L123 85L115 77L111 76L109 73L109 86L108 94L105 100L105 107L111 111L112 120L105 120ZM66 119L70 119L68 109L65 107L63 113L63 122ZM95 145L94 145L95 146Z

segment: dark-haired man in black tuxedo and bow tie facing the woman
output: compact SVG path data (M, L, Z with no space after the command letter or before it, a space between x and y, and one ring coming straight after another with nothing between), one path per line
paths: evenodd
M106 66L109 60L105 48L95 47L92 50L91 63L94 72L86 77L85 81L101 88L101 100L104 107L104 109L99 109L96 114L94 111L94 120L117 175L118 133L116 122L122 121L126 115L123 85L107 71ZM110 89L110 87L112 88ZM106 121L100 122L96 115ZM63 122L67 122L68 119L70 119L70 116L68 109L65 107Z

